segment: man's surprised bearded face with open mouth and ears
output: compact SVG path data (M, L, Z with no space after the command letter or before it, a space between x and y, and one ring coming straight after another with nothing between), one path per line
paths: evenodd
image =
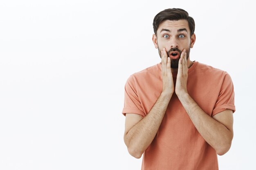
M165 48L168 57L171 58L171 68L178 68L183 49L186 49L188 60L190 48L195 43L195 34L190 36L187 20L166 20L159 25L157 35L153 35L153 42L160 57L162 49Z

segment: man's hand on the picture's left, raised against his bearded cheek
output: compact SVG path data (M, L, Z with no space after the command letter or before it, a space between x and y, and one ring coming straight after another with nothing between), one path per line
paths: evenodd
M162 93L172 95L174 92L173 74L171 72L171 59L167 55L167 51L164 48L161 51L161 68L162 68L162 81L163 89Z

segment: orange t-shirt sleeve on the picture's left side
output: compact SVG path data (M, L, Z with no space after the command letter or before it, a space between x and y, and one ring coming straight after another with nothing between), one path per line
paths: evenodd
M124 108L122 113L124 115L126 115L126 113L134 113L145 117L146 114L144 113L141 102L139 101L136 83L137 82L133 75L131 75L126 81L124 87Z

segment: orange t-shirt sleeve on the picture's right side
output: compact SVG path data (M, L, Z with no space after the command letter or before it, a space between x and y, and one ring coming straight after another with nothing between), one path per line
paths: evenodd
M236 111L234 85L230 75L225 72L217 102L213 108L212 117L226 109Z

